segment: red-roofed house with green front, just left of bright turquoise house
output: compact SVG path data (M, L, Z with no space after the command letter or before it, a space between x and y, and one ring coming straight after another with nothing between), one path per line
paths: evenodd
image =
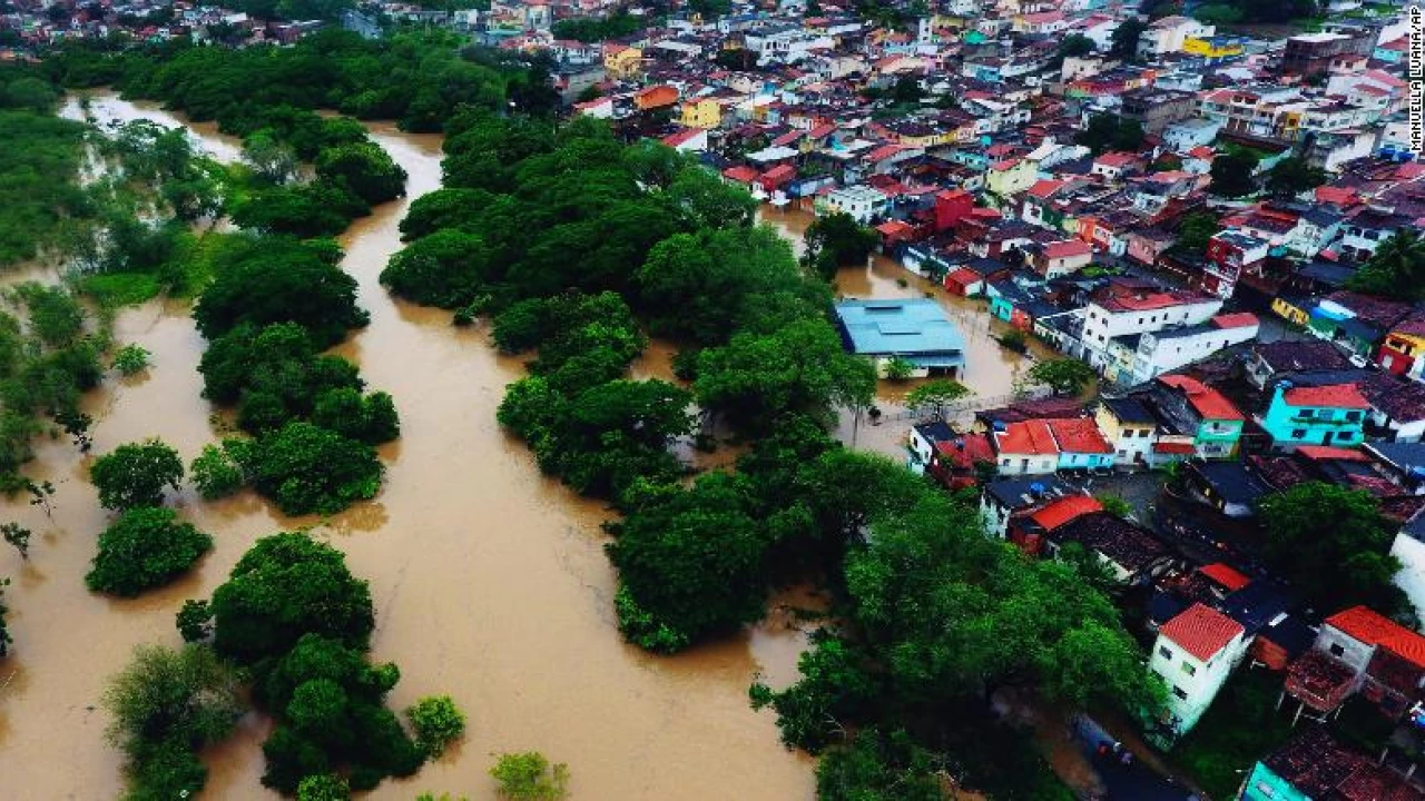
M1191 438L1193 453L1204 459L1230 459L1237 455L1247 418L1226 395L1186 375L1159 376L1143 398L1159 418L1159 443L1174 442L1170 435ZM1181 442L1181 440L1177 440Z

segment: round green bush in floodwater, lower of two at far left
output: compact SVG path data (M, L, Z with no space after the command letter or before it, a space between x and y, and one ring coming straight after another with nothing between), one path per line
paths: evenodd
M172 509L131 509L98 536L98 554L84 583L134 597L172 582L211 549L212 537L180 522Z

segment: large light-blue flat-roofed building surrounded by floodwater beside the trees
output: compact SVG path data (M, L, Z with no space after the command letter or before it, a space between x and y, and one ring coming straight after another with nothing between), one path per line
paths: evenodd
M958 378L965 369L965 339L929 298L838 301L835 309L846 349L882 373L892 359L909 362L911 378Z

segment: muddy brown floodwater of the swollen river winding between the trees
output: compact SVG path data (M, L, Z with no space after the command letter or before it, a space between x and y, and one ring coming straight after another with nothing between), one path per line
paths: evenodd
M110 94L91 108L101 123L181 123ZM218 158L237 153L211 128L195 134ZM437 137L379 124L372 134L410 174L412 198L439 185ZM449 693L469 718L462 744L410 780L383 782L372 798L422 791L484 798L496 755L524 750L567 763L574 798L811 798L812 760L784 750L772 714L754 713L747 700L757 676L775 686L794 678L805 646L795 616L774 614L745 637L675 658L621 641L598 529L608 513L542 477L524 446L494 422L504 385L523 375L519 361L499 356L479 326L453 328L447 312L396 302L376 281L400 247L396 225L406 205L378 208L342 241L343 267L372 322L339 352L361 365L372 388L392 392L402 419L402 438L382 448L388 475L375 500L328 520L292 520L252 495L202 503L185 489L175 499L180 513L214 534L215 550L180 583L115 601L83 584L110 520L86 480L90 460L63 439L37 445L28 473L54 482L54 517L20 502L3 513L36 532L27 563L0 552L0 576L14 579L6 601L16 640L13 656L0 661L4 795L117 795L120 755L104 743L107 720L97 707L105 677L138 643L178 644L172 620L182 600L209 594L254 539L311 526L370 582L372 657L402 670L390 704ZM127 311L115 334L148 348L154 366L105 382L86 400L95 453L157 436L187 460L221 436L200 398L202 339L185 305ZM638 369L663 373L665 358L656 352L656 363ZM208 798L264 797L266 725L249 715L205 755Z

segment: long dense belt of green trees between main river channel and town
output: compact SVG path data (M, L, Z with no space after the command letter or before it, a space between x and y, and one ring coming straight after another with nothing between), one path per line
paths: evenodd
M621 147L589 120L551 131L473 113L446 128L445 188L413 204L383 282L457 319L486 314L502 351L537 353L499 419L543 470L624 513L608 554L627 639L677 651L760 619L771 586L838 590L845 624L818 637L802 681L754 688L788 744L828 750L824 798L933 798L939 770L995 797L1060 798L996 693L1157 703L1074 567L986 540L965 500L825 433L875 376L842 349L812 268L864 258L864 231L826 227L826 255L801 265L751 225L744 192L660 145ZM687 388L627 378L643 325L683 345ZM735 470L687 483L670 446L695 408L757 439Z

